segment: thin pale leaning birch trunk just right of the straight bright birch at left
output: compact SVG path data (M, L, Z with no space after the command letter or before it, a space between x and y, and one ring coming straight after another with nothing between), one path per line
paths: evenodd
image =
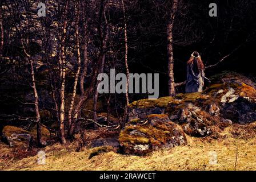
M77 46L77 73L75 73L75 81L74 81L74 88L73 88L73 94L70 102L70 107L69 107L69 129L71 127L71 122L72 122L72 113L73 113L73 107L74 107L74 101L75 101L75 96L77 94L77 82L78 82L78 77L80 74L80 69L81 69L81 57L80 57L80 45L79 45L79 32L78 32L78 23L79 23L79 10L78 10L78 5L75 5L75 40L76 40L76 46Z

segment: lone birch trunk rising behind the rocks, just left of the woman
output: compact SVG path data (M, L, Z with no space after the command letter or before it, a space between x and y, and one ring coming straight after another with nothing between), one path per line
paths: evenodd
M167 23L167 56L168 56L168 87L169 96L175 95L175 82L174 82L174 60L173 60L173 24L175 18L175 12L177 10L178 0L173 1L173 7L171 8L171 16Z

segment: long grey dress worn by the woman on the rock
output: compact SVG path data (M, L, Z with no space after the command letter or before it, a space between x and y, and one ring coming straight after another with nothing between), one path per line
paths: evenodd
M205 77L205 72L198 69L197 59L187 65L186 93L202 92L205 80L210 82L210 80Z

